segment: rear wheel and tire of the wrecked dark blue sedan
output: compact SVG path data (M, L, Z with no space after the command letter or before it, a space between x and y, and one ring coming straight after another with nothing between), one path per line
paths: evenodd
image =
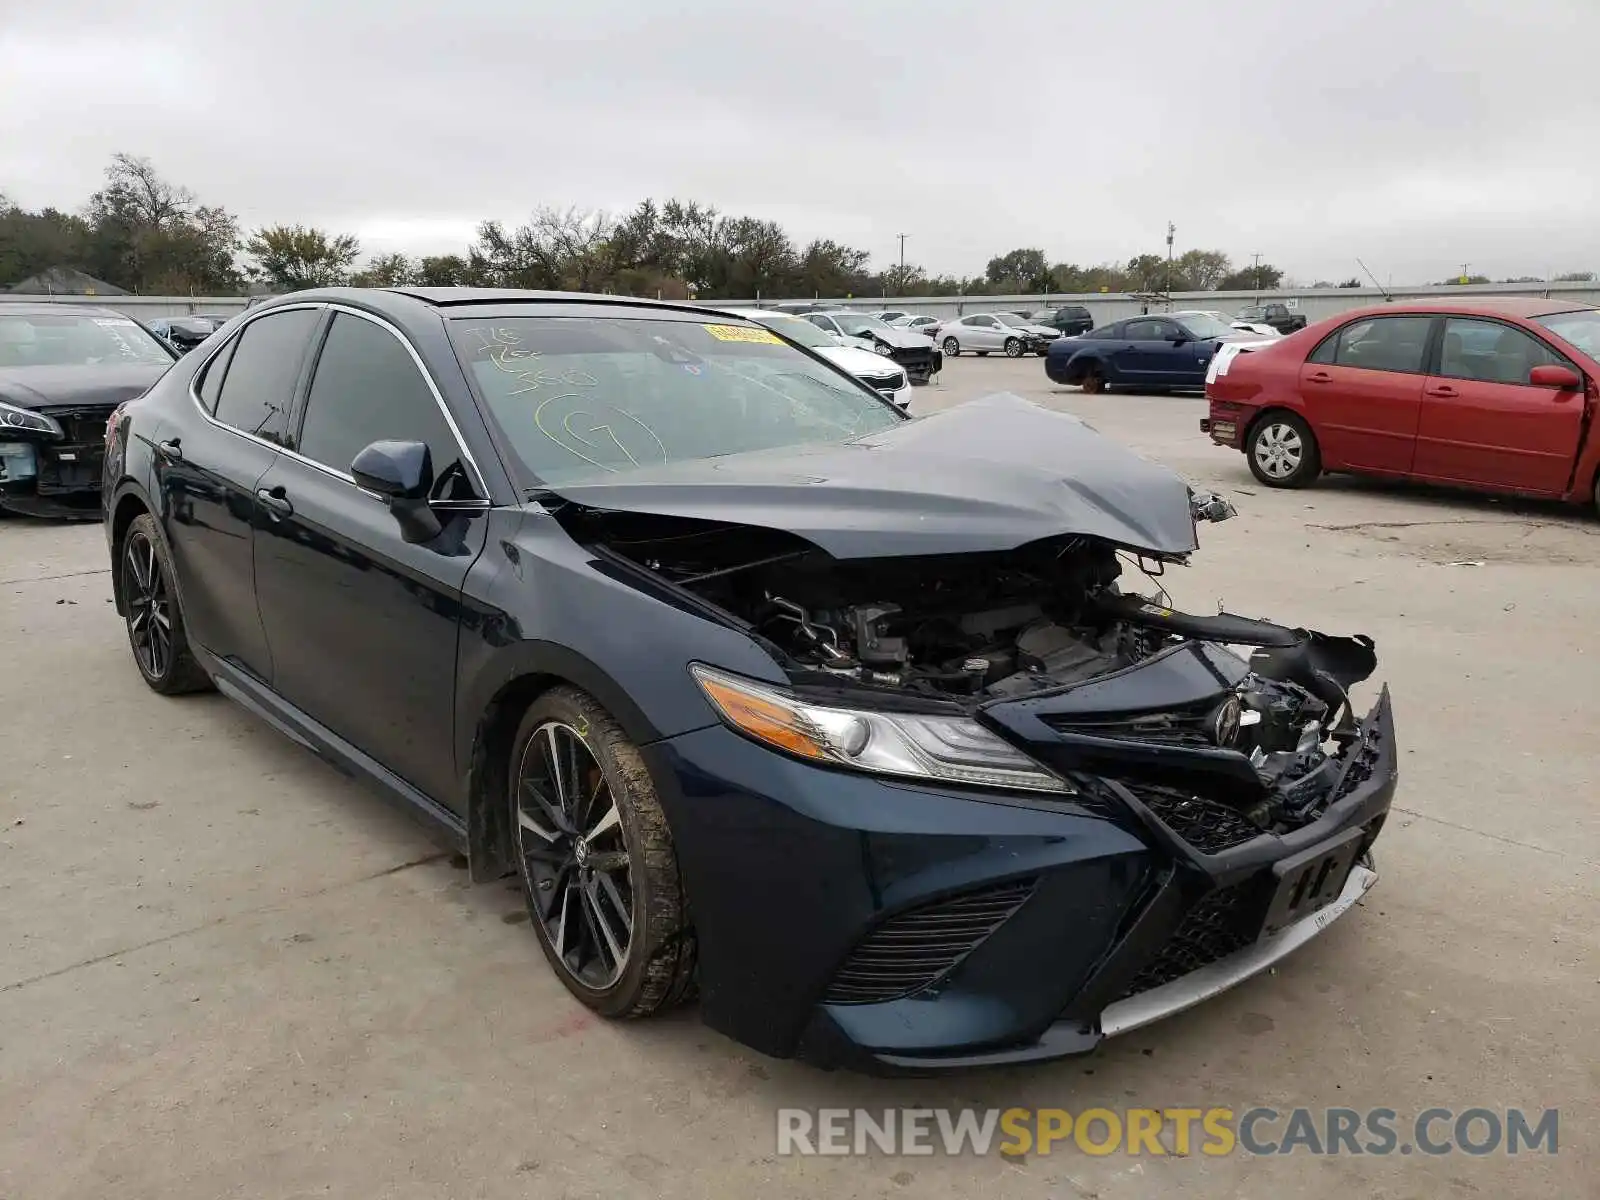
M134 517L123 534L117 571L128 646L144 682L163 696L208 690L211 678L189 648L184 630L173 558L150 514Z

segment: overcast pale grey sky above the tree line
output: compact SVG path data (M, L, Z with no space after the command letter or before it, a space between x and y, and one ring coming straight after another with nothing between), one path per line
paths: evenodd
M246 227L459 251L642 197L978 274L1176 248L1600 270L1600 0L0 0L0 192L117 150Z

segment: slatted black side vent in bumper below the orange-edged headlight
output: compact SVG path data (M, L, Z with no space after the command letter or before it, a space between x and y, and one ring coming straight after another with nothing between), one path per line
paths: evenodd
M824 1002L875 1005L920 992L998 930L1035 882L998 883L890 917L851 950Z

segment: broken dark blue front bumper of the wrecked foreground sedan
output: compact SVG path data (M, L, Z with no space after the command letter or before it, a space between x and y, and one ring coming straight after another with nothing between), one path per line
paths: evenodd
M1120 784L974 795L725 728L643 754L694 886L707 1024L768 1054L933 1072L1090 1051L1320 933L1371 883L1394 741L1384 693L1323 814L1237 845Z

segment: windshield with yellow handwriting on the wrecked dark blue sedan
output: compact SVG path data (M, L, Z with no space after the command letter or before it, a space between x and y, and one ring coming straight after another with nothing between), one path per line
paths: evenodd
M549 485L845 442L904 419L760 326L490 317L453 320L450 338L528 474Z

